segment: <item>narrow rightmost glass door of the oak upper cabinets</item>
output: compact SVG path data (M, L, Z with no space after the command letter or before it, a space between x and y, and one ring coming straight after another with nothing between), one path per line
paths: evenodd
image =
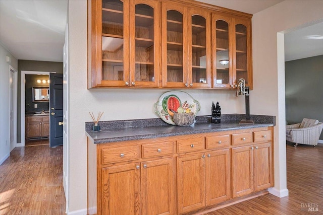
M242 22L242 24L238 23L240 21L236 21L235 23L235 58L236 58L236 66L235 66L235 74L234 78L235 84L238 84L239 79L244 79L246 81L246 85L250 85L250 79L248 77L248 23ZM250 47L250 45L249 45Z

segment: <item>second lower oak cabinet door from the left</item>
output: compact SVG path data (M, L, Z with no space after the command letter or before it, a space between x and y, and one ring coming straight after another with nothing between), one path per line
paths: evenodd
M141 214L175 214L174 159L141 163Z

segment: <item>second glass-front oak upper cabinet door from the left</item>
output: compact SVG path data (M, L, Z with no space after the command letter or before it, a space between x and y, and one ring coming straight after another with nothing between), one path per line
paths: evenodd
M160 55L156 42L159 40L159 19L157 1L130 1L131 86L158 87L159 64L155 62Z

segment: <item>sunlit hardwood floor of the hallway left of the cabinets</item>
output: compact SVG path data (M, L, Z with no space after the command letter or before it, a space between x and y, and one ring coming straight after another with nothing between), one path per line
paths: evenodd
M65 214L63 146L15 148L0 173L0 214Z

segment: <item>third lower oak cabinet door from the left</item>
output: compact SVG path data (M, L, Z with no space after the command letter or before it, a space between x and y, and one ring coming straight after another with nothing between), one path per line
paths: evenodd
M178 213L205 206L204 160L202 153L177 158Z

